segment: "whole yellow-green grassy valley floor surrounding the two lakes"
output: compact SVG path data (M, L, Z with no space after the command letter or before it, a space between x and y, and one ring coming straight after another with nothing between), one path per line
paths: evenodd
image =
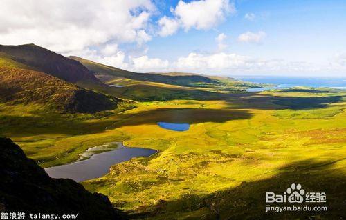
M264 194L284 192L291 183L327 192L331 209L295 217L345 217L345 92L299 88L202 99L124 102L98 114L2 104L0 132L43 167L110 141L159 150L83 183L134 218L290 219L266 214ZM158 121L191 127L174 132Z

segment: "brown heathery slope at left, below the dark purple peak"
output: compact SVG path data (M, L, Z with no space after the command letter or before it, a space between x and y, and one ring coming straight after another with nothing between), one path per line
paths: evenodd
M1 59L0 59L1 60ZM0 102L40 103L61 112L98 112L116 108L116 100L43 72L0 66Z

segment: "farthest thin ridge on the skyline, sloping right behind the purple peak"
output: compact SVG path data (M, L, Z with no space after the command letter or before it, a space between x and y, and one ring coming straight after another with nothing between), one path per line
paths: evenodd
M110 76L178 86L196 86L199 83L219 83L219 81L215 79L200 74L177 74L176 72L172 74L130 72L127 70L122 70L120 68L103 65L101 63L95 63L93 61L89 61L80 57L71 56L69 58L80 61L80 63L86 66L86 68L88 68L91 72L98 75L101 80L103 75L103 77Z

